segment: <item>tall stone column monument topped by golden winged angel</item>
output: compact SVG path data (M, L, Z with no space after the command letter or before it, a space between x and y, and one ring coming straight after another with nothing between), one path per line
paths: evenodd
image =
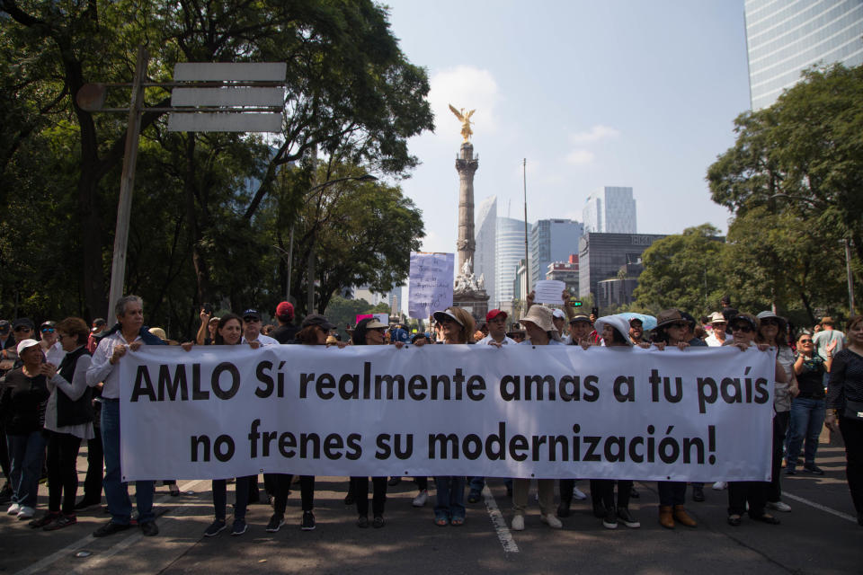
M473 130L470 117L474 110L465 113L464 108L456 110L452 104L449 110L461 121L461 136L464 141L456 158L458 172L458 275L452 291L452 304L462 307L476 319L479 326L485 322L488 312L488 294L485 292L485 278L474 275L474 173L479 167L479 157L474 157L474 146L470 143Z

